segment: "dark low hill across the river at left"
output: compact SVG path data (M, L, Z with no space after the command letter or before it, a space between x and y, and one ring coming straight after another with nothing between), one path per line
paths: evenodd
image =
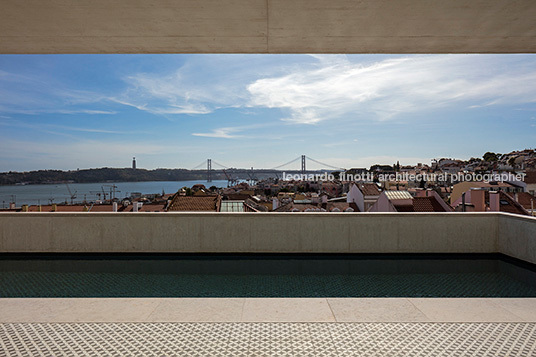
M224 179L221 171L215 170L213 179ZM39 170L29 172L0 173L0 185L21 183L42 184L57 182L93 183L93 182L138 182L138 181L186 181L206 178L205 170L186 169L118 169L99 168L76 171Z

